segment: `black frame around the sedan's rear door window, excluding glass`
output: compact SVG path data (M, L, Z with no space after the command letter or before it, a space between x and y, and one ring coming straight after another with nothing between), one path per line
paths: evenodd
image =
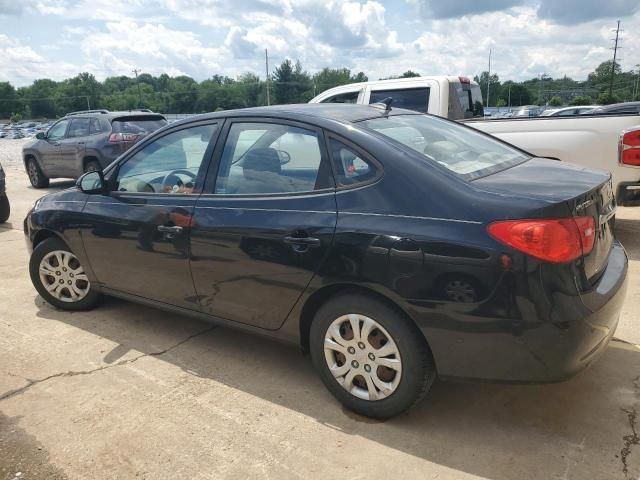
M320 148L320 158L321 163L318 168L318 174L320 174L323 169L329 172L329 177L331 180L332 186L327 188L319 189L319 190L309 190L304 192L280 192L280 193L216 193L215 185L216 180L218 178L218 172L220 171L220 164L222 161L222 154L224 152L224 147L227 143L227 139L229 138L229 133L231 131L231 127L237 123L273 123L277 125L289 125L292 127L303 128L305 130L310 130L315 132L318 135L318 146ZM209 198L260 198L260 197L296 197L296 196L309 196L309 195L325 195L327 193L333 193L335 190L335 178L333 175L333 170L331 167L331 157L329 156L329 151L327 150L326 141L323 140L324 132L322 128L304 123L298 122L295 120L288 120L284 118L278 117L230 117L225 121L224 128L219 129L220 133L218 135L218 142L216 148L213 152L213 158L211 161L211 165L207 171L207 176L204 181L204 187L202 189L202 196L206 196ZM326 164L329 164L329 168L327 168Z

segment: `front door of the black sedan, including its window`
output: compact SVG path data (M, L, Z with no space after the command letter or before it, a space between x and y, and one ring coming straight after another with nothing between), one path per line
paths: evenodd
M204 122L167 131L120 162L109 195L89 198L82 237L99 284L199 309L189 236L216 130Z

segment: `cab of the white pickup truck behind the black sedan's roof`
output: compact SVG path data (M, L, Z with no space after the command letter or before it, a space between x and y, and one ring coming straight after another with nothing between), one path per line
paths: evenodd
M456 120L484 116L480 86L466 77L394 78L341 85L309 103L371 104L393 98L394 108L408 108Z

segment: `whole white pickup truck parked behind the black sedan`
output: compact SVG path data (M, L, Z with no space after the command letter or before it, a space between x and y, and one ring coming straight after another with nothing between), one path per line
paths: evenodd
M640 115L486 120L477 83L465 77L415 77L343 85L310 103L376 103L430 113L494 135L539 157L611 172L618 205L640 206ZM456 152L452 152L455 155Z

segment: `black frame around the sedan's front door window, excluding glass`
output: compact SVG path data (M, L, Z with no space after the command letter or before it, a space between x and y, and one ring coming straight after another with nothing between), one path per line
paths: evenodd
M180 130L187 130L189 128L202 127L206 125L217 125L217 128L214 130L213 135L209 139L209 144L205 149L204 155L202 157L202 163L200 164L200 168L198 168L198 174L196 176L196 181L194 183L193 192L191 194L188 194L187 196L197 197L200 194L202 194L205 177L206 177L209 165L212 162L214 149L216 147L218 140L220 139L220 131L224 126L224 119L221 119L221 118L216 118L211 120L202 120L199 122L189 123L188 125L179 125L179 126L170 128L168 130L164 130L160 134L154 133L150 137L144 139L139 145L135 145L134 147L129 149L125 154L125 157L122 160L120 160L117 164L115 164L113 169L109 169L107 172L107 181L109 183L110 194L116 197L143 196L143 197L151 197L151 198L157 198L158 196L169 196L171 198L184 196L181 194L176 195L175 193L165 193L165 192L158 192L158 193L156 192L153 192L153 193L152 192L120 192L120 191L114 190L114 187L115 187L115 182L118 178L120 167L122 167L122 165L128 162L131 158L133 158L138 152L144 149L147 145L163 137L166 137L167 135L178 132Z

